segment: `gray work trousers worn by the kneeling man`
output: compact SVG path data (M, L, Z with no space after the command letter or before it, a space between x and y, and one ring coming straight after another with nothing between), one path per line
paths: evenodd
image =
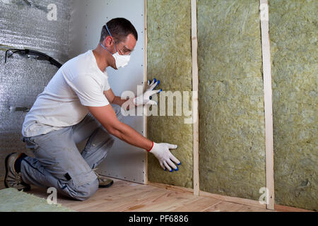
M120 107L114 107L122 119ZM76 143L85 141L80 153ZM88 114L74 126L52 131L45 135L23 138L35 157L25 157L21 162L23 182L35 186L54 187L58 193L76 200L86 200L98 190L98 179L93 171L114 143L114 138L102 125Z

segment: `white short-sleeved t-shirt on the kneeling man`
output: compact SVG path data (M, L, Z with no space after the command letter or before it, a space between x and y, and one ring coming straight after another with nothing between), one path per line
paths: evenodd
M110 90L107 72L98 68L92 50L67 61L37 96L25 116L22 135L47 134L81 122L90 107L109 105L104 95Z

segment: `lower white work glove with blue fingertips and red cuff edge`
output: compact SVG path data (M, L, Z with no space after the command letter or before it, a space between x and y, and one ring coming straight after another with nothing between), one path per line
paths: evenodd
M175 171L179 170L175 163L181 165L181 162L170 153L169 149L177 149L177 147L177 145L169 143L153 143L153 148L148 152L153 153L153 155L158 158L160 166L163 167L163 169L168 169L170 172L173 172L173 169L175 169Z

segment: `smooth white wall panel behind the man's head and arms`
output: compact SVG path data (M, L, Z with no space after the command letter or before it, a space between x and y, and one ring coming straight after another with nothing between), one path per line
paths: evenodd
M114 94L121 96L126 90L137 94L137 85L144 82L144 1L143 0L73 0L69 34L69 57L95 49L100 40L102 25L112 18L123 17L135 26L139 40L131 61L124 69L107 69ZM142 111L142 110L141 110ZM143 134L143 117L125 117L124 123ZM99 172L119 179L144 184L146 153L116 138L112 151L107 155Z

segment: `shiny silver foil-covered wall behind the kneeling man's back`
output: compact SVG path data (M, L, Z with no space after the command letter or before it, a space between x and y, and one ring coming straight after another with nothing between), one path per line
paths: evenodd
M57 20L48 20L49 4L56 6ZM50 14L49 18L54 18ZM31 153L21 141L25 112L14 107L32 107L37 95L57 72L46 61L14 55L4 64L3 46L30 48L45 52L57 61L68 59L69 1L0 0L0 177L5 174L4 159L12 152Z

